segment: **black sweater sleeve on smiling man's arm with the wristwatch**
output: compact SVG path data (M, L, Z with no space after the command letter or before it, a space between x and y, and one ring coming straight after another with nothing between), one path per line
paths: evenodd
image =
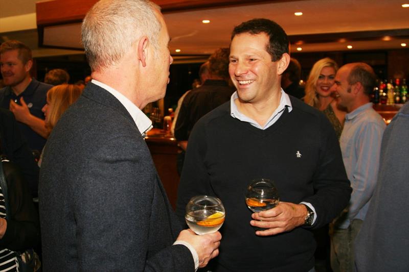
M303 200L315 208L314 229L339 215L348 205L352 192L335 131L324 115L320 118L320 159L313 175L315 194Z

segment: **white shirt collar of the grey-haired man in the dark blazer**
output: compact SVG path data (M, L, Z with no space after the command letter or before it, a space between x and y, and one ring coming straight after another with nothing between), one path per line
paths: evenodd
M146 116L135 104L133 104L125 95L117 91L116 89L113 89L112 87L109 87L108 85L99 82L98 80L93 79L91 81L95 85L100 86L101 88L104 88L107 90L109 93L111 93L113 96L115 96L119 102L125 107L125 109L129 112L131 115L133 121L138 127L138 130L141 132L141 134L144 136L146 132L148 132L150 129L152 129L152 121Z

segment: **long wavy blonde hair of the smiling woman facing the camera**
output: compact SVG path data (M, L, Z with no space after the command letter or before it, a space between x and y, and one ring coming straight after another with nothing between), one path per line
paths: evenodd
M338 70L338 64L330 58L324 58L314 63L312 66L310 75L308 76L307 83L305 84L305 96L304 102L314 108L320 108L320 102L318 100L315 84L320 77L321 70L324 67L332 67L336 71Z

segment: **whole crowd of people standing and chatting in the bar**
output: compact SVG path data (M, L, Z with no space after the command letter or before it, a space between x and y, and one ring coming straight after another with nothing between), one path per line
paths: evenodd
M64 69L37 81L29 47L0 46L0 271L319 272L320 230L333 271L409 269L409 104L387 127L370 65L324 58L300 86L279 24L236 26L178 102L174 211L142 112L165 96L173 62L160 7L101 0L81 37L92 74L76 84ZM258 178L275 181L280 202L252 212L244 190ZM221 199L219 231L186 226L195 195Z

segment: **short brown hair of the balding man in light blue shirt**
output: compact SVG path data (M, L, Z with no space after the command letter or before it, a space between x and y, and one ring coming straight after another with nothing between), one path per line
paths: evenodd
M358 63L351 69L348 76L348 84L353 85L360 82L363 86L363 92L369 95L376 85L376 75L371 66L366 63Z

